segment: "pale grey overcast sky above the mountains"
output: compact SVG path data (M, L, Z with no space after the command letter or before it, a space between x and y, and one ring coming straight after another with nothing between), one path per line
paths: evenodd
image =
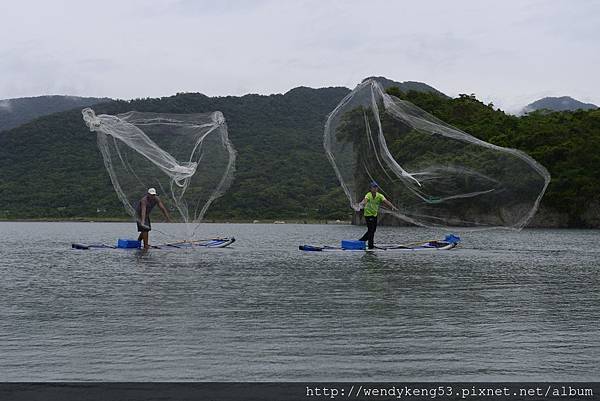
M421 81L600 104L600 0L0 0L0 99Z

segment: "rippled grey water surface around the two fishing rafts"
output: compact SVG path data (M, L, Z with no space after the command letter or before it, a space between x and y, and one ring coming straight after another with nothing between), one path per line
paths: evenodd
M0 380L598 380L599 231L307 254L363 229L207 224L230 249L75 251L117 223L0 223ZM380 242L439 237L380 228Z

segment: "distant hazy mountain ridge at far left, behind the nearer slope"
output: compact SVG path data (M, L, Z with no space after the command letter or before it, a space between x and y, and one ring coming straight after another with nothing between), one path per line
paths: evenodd
M0 131L18 127L34 118L111 99L77 96L37 96L0 100Z

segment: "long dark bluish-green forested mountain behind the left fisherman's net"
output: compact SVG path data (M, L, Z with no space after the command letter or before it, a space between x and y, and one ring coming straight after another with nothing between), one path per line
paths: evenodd
M345 202L323 152L327 114L347 88L296 88L284 95L209 98L182 93L113 101L97 113L219 110L238 151L236 179L208 218L330 217ZM79 110L36 119L0 135L0 217L122 216ZM331 199L335 199L334 202Z

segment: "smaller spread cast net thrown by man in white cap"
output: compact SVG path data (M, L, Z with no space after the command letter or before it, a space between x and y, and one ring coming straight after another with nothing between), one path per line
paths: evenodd
M155 188L172 220L186 223L185 232L176 235L193 239L210 204L233 180L236 152L223 114L131 111L113 116L96 115L90 108L82 114L96 132L104 165L127 213L139 221L138 203Z

